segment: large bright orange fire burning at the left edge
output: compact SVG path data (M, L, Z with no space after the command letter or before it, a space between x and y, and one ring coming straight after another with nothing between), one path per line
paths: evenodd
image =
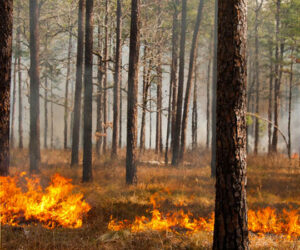
M39 178L25 175L0 177L1 223L22 226L39 222L50 229L82 226L83 216L91 207L81 193L72 193L75 186L70 179L55 174L43 190Z

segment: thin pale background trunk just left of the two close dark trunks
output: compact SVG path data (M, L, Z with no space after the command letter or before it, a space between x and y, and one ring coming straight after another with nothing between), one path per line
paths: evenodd
M71 25L69 23L69 25ZM69 83L71 71L71 52L72 52L72 27L69 28L69 47L68 47L68 60L67 60L67 79L65 89L65 103L64 103L64 149L68 148L68 118L69 118Z

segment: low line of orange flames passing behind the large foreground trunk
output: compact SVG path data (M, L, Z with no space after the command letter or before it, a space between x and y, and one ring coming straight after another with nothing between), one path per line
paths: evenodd
M185 213L182 209L179 211L162 214L158 209L154 194L150 198L153 205L151 218L145 216L136 217L134 222L127 220L116 221L111 218L108 229L111 231L120 231L130 229L132 232L141 232L148 230L185 232L187 234L200 231L212 232L214 229L214 213L209 218L195 218L192 213ZM270 207L258 211L248 211L249 231L259 235L266 233L285 235L288 239L300 237L299 210L282 210L282 213L276 213L275 209Z

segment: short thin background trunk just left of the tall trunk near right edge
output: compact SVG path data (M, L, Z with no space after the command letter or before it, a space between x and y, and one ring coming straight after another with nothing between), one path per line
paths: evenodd
M270 76L269 76L269 103L268 103L268 120L272 121L272 102L273 102L273 49L269 42L270 56ZM272 124L268 124L268 154L272 151Z

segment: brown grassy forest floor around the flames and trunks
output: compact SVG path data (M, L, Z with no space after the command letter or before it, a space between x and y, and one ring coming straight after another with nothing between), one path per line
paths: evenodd
M81 183L81 167L70 169L69 151L42 151L41 179L47 185L54 173L72 178L91 205L79 229L29 226L25 229L4 225L3 249L211 249L212 232L109 232L110 218L134 221L136 216L151 216L149 202L154 194L160 199L160 211L178 209L207 218L214 211L214 180L210 178L209 154L187 153L186 164L178 168L165 166L163 157L153 152L140 156L138 184L125 185L125 152L119 159L94 157L94 181ZM25 151L13 151L11 174L28 171ZM247 201L250 209L270 206L278 211L300 208L300 167L292 166L284 156L248 157ZM300 249L300 239L250 232L251 249Z

